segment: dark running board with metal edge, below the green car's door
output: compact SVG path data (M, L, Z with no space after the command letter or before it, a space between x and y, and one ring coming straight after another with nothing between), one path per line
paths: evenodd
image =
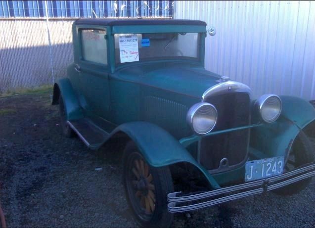
M67 124L90 149L97 149L109 135L88 118L68 120Z

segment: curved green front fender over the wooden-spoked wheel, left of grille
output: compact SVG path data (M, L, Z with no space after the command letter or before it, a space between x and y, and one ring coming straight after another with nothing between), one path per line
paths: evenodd
M148 122L130 122L118 126L110 135L118 132L127 134L137 145L149 165L168 166L189 162L196 166L214 188L220 188L213 177L190 155L170 133Z

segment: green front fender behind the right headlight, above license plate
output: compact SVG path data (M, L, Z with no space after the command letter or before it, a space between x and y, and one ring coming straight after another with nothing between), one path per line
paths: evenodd
M299 132L315 120L315 109L307 100L292 96L280 98L279 119L251 129L251 147L266 157L286 156Z

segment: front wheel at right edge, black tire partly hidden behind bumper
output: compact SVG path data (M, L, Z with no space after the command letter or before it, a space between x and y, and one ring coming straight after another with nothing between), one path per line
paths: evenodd
M291 171L304 164L314 162L313 147L309 138L303 131L295 138L292 148L288 154L288 159L284 166L284 173ZM290 164L291 163L291 164ZM293 195L303 190L312 178L308 178L299 182L292 183L285 187L273 190L278 195Z

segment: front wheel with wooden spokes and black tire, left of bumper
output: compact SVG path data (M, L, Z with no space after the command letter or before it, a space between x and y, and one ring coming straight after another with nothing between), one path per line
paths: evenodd
M132 141L124 150L123 166L127 201L140 226L170 227L173 214L167 210L167 194L174 192L174 185L169 167L149 166Z

